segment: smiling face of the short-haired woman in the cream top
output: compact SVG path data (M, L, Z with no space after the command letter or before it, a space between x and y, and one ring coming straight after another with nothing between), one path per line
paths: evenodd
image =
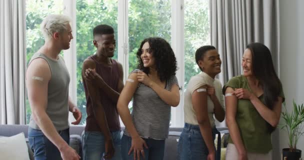
M202 71L210 76L220 73L221 60L216 49L207 50L203 57L198 60L198 65L203 68Z

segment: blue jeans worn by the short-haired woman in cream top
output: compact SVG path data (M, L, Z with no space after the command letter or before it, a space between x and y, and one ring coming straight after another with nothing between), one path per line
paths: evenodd
M212 128L212 140L217 133L215 127ZM214 148L215 150L215 148ZM208 148L201 136L199 126L185 123L177 144L178 160L207 159Z

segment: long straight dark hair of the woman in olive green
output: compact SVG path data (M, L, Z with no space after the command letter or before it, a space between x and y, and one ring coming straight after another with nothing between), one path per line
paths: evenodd
M252 71L263 88L265 104L272 109L280 94L281 82L275 73L270 50L258 42L248 44L247 48L252 53Z

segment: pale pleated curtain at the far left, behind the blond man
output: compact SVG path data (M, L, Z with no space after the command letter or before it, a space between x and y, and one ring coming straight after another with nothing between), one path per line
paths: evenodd
M25 123L25 0L0 0L0 124Z

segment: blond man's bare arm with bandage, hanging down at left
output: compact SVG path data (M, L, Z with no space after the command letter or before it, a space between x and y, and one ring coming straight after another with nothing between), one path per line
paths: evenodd
M26 70L26 87L32 117L43 134L70 159L78 159L78 155L58 134L45 109L47 106L47 86L51 77L47 62L42 58L31 61ZM77 157L78 156L78 157Z

